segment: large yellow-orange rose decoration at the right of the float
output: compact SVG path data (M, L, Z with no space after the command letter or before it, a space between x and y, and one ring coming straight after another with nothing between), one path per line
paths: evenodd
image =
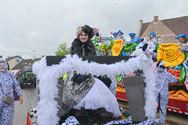
M175 67L185 60L185 55L181 51L181 47L175 43L160 44L157 51L157 60L164 61L164 66Z

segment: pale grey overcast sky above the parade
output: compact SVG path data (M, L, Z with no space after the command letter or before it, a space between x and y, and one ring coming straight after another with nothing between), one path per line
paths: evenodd
M127 37L138 32L140 19L187 15L188 0L0 0L0 55L54 55L84 24L103 36L122 30Z

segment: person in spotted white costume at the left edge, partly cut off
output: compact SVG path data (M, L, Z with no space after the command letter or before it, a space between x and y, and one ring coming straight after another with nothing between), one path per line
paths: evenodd
M19 95L20 104L23 97L20 85L13 74L8 72L8 64L5 59L0 58L0 125L12 125L14 115L14 94ZM9 99L8 99L9 98ZM9 100L9 101L8 101Z

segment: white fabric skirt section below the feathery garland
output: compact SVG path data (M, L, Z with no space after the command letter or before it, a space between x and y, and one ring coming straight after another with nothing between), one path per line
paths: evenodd
M106 111L113 113L114 117L121 116L119 104L116 97L112 94L110 89L99 79L94 78L95 83L87 95L78 103L74 109L80 110L81 107L85 109L105 108Z

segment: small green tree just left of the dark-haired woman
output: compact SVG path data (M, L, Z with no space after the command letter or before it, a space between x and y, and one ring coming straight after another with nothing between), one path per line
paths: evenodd
M67 43L62 43L59 45L57 51L55 52L56 56L65 56L69 52Z

